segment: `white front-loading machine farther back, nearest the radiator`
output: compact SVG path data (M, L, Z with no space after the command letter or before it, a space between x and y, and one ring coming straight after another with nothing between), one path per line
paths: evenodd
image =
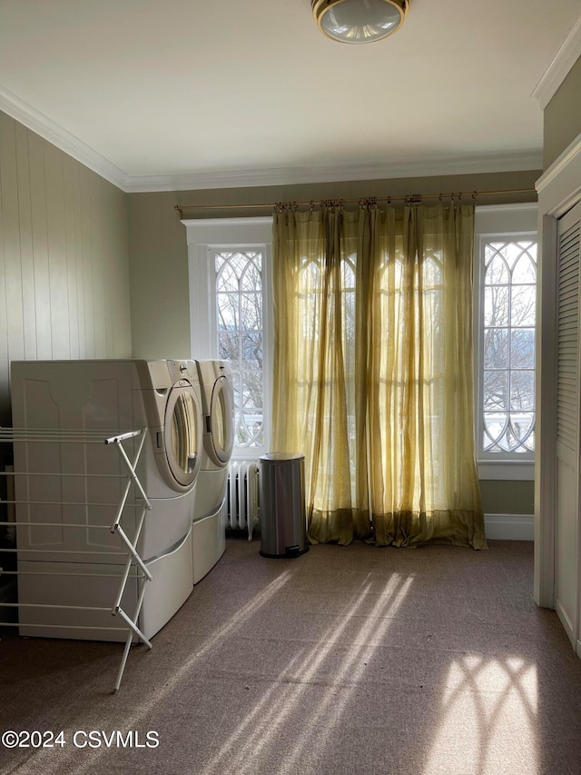
M192 521L193 582L226 548L225 498L234 445L234 387L230 363L197 361L202 390L203 451Z

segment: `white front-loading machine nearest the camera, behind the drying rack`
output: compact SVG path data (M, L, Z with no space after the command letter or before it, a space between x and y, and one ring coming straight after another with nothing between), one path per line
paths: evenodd
M136 473L152 509L137 550L153 575L146 583L139 619L143 633L151 637L193 587L192 513L202 463L202 395L196 364L14 362L11 392L15 428L99 431L103 438L147 428ZM130 459L136 444L125 443ZM120 537L105 529L113 522L115 504L127 482L117 450L105 444L16 442L15 471L21 472L15 477L17 522L54 525L18 526L18 602L105 609L22 607L21 634L124 641L126 628L106 611L115 601L127 558ZM121 521L132 540L142 505L140 492L132 485ZM138 589L137 579L130 579L122 601L130 615Z

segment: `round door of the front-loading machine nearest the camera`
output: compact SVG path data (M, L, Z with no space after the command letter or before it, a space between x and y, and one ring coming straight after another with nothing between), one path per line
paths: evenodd
M190 383L175 385L165 407L165 453L175 481L188 489L202 464L202 409Z

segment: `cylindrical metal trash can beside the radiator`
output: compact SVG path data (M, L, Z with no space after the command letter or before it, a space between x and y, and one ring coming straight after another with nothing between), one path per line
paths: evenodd
M309 550L305 456L270 452L260 459L261 555L298 557Z

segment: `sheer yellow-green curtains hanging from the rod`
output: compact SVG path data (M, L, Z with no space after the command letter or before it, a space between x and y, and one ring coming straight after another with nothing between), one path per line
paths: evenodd
M474 205L274 217L273 449L304 452L311 542L486 548Z

